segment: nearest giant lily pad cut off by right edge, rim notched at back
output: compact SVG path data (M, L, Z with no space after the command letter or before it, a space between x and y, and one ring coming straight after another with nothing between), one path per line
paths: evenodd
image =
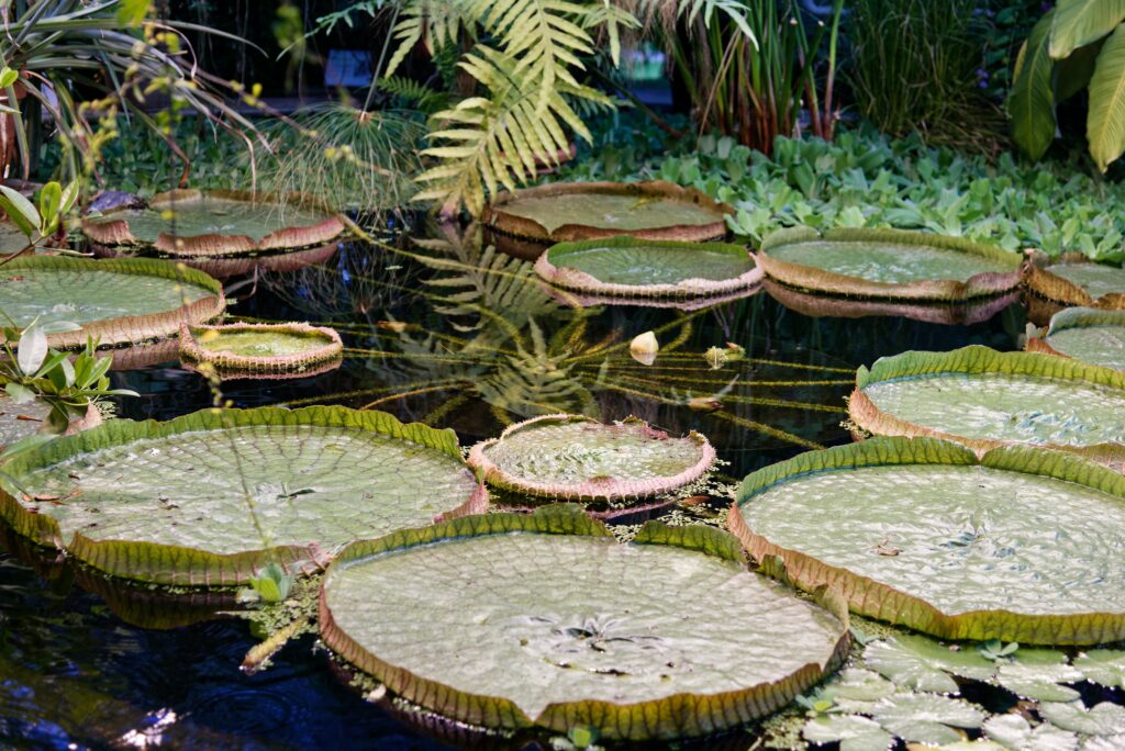
M749 474L728 518L863 615L942 639L1125 637L1125 478L1072 454L865 441Z

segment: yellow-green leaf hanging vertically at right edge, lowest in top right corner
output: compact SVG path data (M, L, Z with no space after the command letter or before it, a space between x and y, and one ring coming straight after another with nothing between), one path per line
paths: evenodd
M1098 53L1090 79L1086 138L1102 172L1125 152L1125 25L1114 30Z

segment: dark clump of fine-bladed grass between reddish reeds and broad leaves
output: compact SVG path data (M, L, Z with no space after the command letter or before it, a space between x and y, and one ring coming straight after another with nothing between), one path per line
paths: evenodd
M845 72L856 107L883 133L994 145L1000 109L981 88L986 64L978 0L853 0ZM983 136L983 137L982 137Z

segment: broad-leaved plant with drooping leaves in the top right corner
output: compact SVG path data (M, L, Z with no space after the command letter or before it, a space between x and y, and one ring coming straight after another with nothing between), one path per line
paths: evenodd
M1105 172L1125 152L1125 0L1060 0L1032 28L1016 62L1008 116L1016 144L1040 159L1055 108L1086 90L1086 138Z

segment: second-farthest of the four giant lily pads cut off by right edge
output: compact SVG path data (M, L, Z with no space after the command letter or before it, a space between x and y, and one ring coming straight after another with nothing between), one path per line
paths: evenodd
M1026 350L1125 370L1125 310L1060 310L1043 338L1028 337Z

